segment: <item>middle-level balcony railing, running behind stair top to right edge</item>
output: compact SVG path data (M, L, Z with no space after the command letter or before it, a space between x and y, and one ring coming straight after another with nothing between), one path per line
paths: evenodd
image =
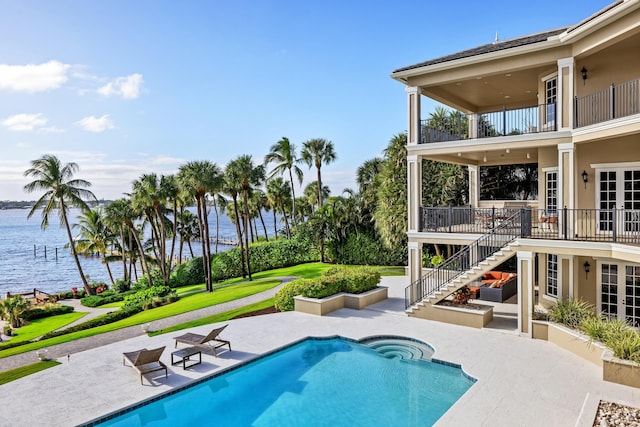
M517 211L521 237L640 245L640 210L423 207L420 231L485 234Z

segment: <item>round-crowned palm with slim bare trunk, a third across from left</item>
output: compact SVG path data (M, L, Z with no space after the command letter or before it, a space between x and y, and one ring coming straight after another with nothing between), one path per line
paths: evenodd
M196 202L200 242L202 243L202 266L206 288L213 291L211 279L211 240L209 237L209 215L207 193L216 192L222 185L222 173L215 163L209 161L189 162L180 167L178 181L184 191L191 194Z

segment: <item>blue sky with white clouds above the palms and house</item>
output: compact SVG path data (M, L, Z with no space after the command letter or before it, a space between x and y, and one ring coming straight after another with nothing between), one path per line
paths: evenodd
M116 199L192 160L260 164L282 137L333 143L339 195L407 127L394 69L611 2L0 0L0 200L40 196L24 171L44 154Z

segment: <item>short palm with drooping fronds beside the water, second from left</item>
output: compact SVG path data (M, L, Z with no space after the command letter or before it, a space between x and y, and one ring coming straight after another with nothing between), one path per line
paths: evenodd
M100 254L102 263L106 266L109 279L113 285L115 280L113 280L113 274L111 274L111 268L109 268L107 248L115 240L115 236L105 225L104 218L105 214L101 208L82 211L79 218L80 222L74 225L74 227L80 227L80 233L78 235L80 240L78 240L77 244L78 252Z

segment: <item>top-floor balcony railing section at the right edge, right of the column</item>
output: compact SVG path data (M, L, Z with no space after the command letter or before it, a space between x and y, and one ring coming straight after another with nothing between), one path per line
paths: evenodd
M575 127L640 113L640 79L575 98Z

